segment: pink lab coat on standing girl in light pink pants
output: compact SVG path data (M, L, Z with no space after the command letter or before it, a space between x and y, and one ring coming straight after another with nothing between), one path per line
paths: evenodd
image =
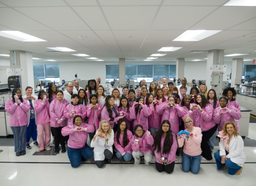
M44 123L50 123L50 103L44 102L41 99L38 99L34 103L34 110L36 111L36 125L42 125Z

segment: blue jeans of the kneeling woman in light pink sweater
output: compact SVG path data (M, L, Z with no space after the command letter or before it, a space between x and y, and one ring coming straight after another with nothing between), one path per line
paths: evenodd
M183 152L182 154L182 169L184 172L191 170L194 174L197 174L200 170L201 154L198 156L190 156Z

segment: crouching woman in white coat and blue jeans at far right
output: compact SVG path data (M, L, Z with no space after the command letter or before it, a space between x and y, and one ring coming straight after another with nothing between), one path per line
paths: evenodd
M218 137L220 151L214 153L218 170L228 168L228 174L239 175L246 157L243 152L244 141L238 135L236 125L231 121L226 122Z

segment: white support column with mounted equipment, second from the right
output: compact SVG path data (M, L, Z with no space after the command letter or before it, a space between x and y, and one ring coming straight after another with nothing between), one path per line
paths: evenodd
M206 86L207 89L214 89L216 91L217 97L220 97L222 95L222 79L223 75L219 76L218 75L213 75L212 77L212 83L213 84L218 84L220 81L220 85L214 87L211 85L211 74L212 72L210 71L209 66L210 65L224 65L224 50L210 50L208 51L207 55L207 65L206 65Z

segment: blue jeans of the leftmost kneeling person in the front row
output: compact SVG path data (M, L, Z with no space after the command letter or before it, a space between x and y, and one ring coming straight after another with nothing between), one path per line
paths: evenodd
M81 156L87 160L93 157L92 149L88 144L85 144L83 148L70 148L68 146L68 159L72 167L78 168L81 165Z

